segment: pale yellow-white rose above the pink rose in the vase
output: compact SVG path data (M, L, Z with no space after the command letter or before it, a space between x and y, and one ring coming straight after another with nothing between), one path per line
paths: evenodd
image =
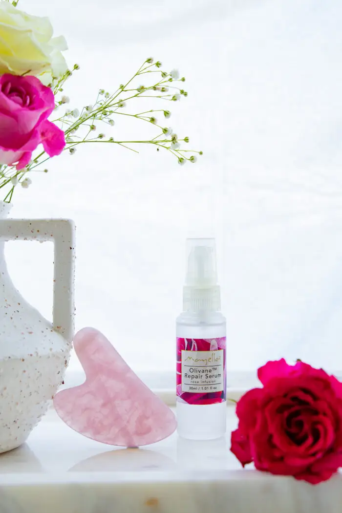
M30 74L47 84L52 76L63 75L68 67L62 51L63 36L52 37L47 17L31 16L8 2L0 2L0 75Z

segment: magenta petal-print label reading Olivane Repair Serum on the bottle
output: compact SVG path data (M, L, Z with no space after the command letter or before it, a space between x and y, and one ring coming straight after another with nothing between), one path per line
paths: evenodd
M226 337L177 339L177 401L226 401Z

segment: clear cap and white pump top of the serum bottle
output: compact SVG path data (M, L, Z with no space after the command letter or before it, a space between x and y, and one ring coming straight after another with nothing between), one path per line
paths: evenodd
M218 311L220 306L215 239L188 239L183 309Z

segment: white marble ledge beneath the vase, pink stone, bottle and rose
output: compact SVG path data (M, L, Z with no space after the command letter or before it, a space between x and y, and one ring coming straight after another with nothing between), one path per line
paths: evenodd
M236 426L227 408L228 430ZM311 486L242 470L226 439L176 434L112 449L49 411L27 444L0 456L0 513L340 513L342 477Z

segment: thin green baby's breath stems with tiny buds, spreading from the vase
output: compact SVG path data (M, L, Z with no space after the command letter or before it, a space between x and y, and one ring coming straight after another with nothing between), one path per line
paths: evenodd
M153 66L156 66L158 70L151 69ZM126 103L133 98L159 98L162 100L167 100L169 102L174 101L175 92L170 92L170 94L156 94L156 92L160 91L164 86L167 90L178 90L182 91L177 85L174 85L176 82L184 82L184 78L180 79L172 79L170 73L166 73L160 70L161 63L158 61L156 64L151 63L150 59L147 59L142 66L139 67L137 72L130 78L130 80L124 85L120 85L116 91L112 94L105 93L105 90L100 90L96 97L95 104L92 104L91 108L83 107L81 110L81 115L79 117L75 117L72 119L71 116L75 115L75 111L70 110L69 113L65 113L57 117L54 120L54 123L59 123L62 125L62 129L64 130L66 137L66 146L65 151L72 150L73 148L78 147L83 143L112 143L117 144L118 146L122 146L126 149L129 149L135 153L138 151L134 148L131 148L130 145L137 144L150 144L159 148L164 148L174 155L178 161L182 159L182 161L191 161L194 162L194 159L190 156L188 158L186 156L187 152L198 153L202 155L202 151L191 151L191 150L183 150L182 148L173 149L172 143L180 143L180 142L189 142L189 138L178 139L175 134L172 137L169 137L165 134L166 127L156 123L156 120L153 119L154 114L157 112L163 112L166 119L170 117L170 112L166 109L150 109L144 112L139 112L137 114L131 114L128 112L119 111L123 107L126 106ZM64 84L67 79L73 74L75 70L79 69L79 66L74 66L72 71L67 71L60 78L52 79L52 90L55 96L59 93L63 92ZM138 78L140 75L146 74L147 76L154 76L152 73L160 73L160 80L156 80L153 85L145 85L134 87L132 82L134 79ZM132 84L132 85L131 85ZM131 85L131 86L130 86ZM163 93L164 91L162 91ZM184 93L184 92L183 92ZM183 94L180 92L180 94ZM62 100L57 100L55 98L56 107L63 107L68 102L63 102ZM66 105L65 105L66 106ZM89 112L88 112L89 110ZM138 120L145 121L152 125L155 125L158 135L155 135L151 140L136 140L136 141L115 141L113 137L110 139L106 138L103 133L99 133L98 135L92 135L92 132L97 131L96 125L98 123L105 123L107 126L113 126L113 116L117 115L125 115L131 118L136 118ZM159 116L158 116L159 117ZM152 119L152 121L151 121ZM155 121L155 123L153 123ZM78 131L79 132L76 132ZM100 131L100 130L99 130ZM73 153L73 151L71 151ZM11 201L13 196L13 191L15 189L15 185L11 184L11 180L15 177L18 182L21 182L26 175L27 172L30 171L43 171L42 169L37 169L42 166L45 162L47 162L50 157L46 154L45 151L40 152L37 156L34 157L33 162L31 162L25 169L17 171L15 166L1 166L0 165L0 188L5 186L10 186L7 195L5 196L5 201ZM47 171L47 170L45 170Z

